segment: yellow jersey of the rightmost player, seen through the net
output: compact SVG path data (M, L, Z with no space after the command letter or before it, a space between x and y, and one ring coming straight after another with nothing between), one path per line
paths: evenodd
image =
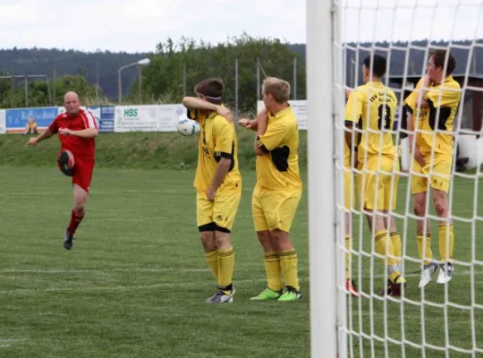
M417 108L422 81L419 80L403 102L404 108L412 115L414 130L418 130L415 133L416 145L425 156L430 155L432 149L435 154L452 155L454 136L447 132L453 132L454 117L462 96L460 84L454 81L453 76L446 77L443 83L431 86L423 97L429 107Z

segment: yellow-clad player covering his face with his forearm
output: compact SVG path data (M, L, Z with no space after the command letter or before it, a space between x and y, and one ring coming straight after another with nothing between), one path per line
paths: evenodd
M216 278L216 293L207 303L232 303L234 251L230 239L242 196L238 170L238 141L233 121L225 116L224 85L207 79L195 86L197 98L183 98L188 116L199 122L199 157L194 186L197 190L197 223L205 259Z

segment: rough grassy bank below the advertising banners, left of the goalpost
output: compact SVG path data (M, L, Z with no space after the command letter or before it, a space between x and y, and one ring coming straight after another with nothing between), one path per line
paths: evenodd
M237 128L238 159L243 169L255 168L255 133ZM197 166L199 135L177 132L101 133L96 140L97 167L130 169L190 169ZM0 166L52 166L59 149L56 137L27 147L29 137L0 135ZM300 163L307 165L307 132L300 132Z

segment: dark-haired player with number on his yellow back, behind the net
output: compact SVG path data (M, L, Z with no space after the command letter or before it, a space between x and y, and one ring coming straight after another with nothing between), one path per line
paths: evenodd
M389 282L380 294L400 295L405 284L401 269L401 236L391 211L395 209L399 159L392 131L397 108L394 91L381 79L386 74L386 58L369 55L362 68L365 84L352 91L345 107L346 126L360 130L357 187L360 208L368 217L376 251L386 256ZM349 136L346 139L349 140ZM352 143L348 143L349 148Z

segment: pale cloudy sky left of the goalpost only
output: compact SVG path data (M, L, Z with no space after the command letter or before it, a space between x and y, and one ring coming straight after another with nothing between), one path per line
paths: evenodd
M7 1L0 0L0 13ZM269 15L277 4L280 13ZM256 37L305 41L305 0L18 0L14 13L6 26L2 21L3 47L141 52L154 51L168 37L218 42L243 30Z

